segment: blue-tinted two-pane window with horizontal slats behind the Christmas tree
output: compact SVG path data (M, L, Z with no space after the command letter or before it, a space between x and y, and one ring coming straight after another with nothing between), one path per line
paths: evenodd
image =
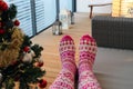
M18 8L20 28L29 37L37 34L55 21L57 0L6 0Z

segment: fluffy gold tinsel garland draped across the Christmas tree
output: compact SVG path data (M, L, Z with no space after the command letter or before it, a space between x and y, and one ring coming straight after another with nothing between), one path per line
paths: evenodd
M23 34L17 27L12 28L13 33L11 36L11 42L8 44L6 50L0 50L0 68L8 67L17 60L20 51L20 47L23 42Z

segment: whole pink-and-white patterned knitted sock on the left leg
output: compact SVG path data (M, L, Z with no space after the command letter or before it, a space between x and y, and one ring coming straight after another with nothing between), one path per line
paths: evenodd
M70 36L64 36L61 39L59 51L62 61L62 70L50 89L74 89L74 75L76 70L74 62L75 47Z

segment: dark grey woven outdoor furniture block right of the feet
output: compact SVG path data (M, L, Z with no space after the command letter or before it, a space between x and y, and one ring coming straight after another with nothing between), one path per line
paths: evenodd
M133 49L133 18L95 16L92 37L99 47Z

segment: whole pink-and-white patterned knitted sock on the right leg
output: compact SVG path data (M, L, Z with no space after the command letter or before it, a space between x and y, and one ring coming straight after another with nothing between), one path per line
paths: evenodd
M85 34L80 39L79 89L101 89L92 67L96 53L95 40Z

